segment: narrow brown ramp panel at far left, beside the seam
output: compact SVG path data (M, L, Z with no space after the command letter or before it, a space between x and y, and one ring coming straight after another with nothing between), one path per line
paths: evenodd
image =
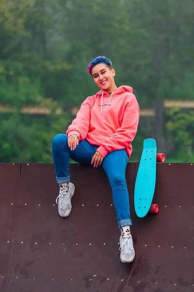
M0 164L0 291L7 291L18 222L20 164Z

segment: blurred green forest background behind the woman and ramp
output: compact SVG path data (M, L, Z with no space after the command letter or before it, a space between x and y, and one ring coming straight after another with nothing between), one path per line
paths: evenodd
M0 0L0 162L52 162L52 138L98 91L98 55L142 110L131 161L151 137L167 161L194 161L194 0Z

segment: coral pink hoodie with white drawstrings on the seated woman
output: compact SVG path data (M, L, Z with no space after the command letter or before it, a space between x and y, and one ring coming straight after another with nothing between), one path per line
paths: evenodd
M129 86L120 86L112 94L102 89L81 104L76 118L66 134L86 139L105 157L108 153L125 149L128 158L139 123L139 105Z

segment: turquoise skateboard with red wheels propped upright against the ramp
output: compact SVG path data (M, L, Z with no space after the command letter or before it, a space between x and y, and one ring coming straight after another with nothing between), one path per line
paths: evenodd
M157 204L152 204L156 184L156 162L164 162L163 153L156 154L156 141L146 139L137 172L134 204L138 217L145 217L148 211L158 213Z

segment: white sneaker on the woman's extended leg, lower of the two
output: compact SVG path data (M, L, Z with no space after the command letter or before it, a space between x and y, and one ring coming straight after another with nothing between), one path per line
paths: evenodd
M120 248L121 251L120 259L123 263L130 263L135 257L135 251L133 248L133 239L132 236L129 237L120 237Z

